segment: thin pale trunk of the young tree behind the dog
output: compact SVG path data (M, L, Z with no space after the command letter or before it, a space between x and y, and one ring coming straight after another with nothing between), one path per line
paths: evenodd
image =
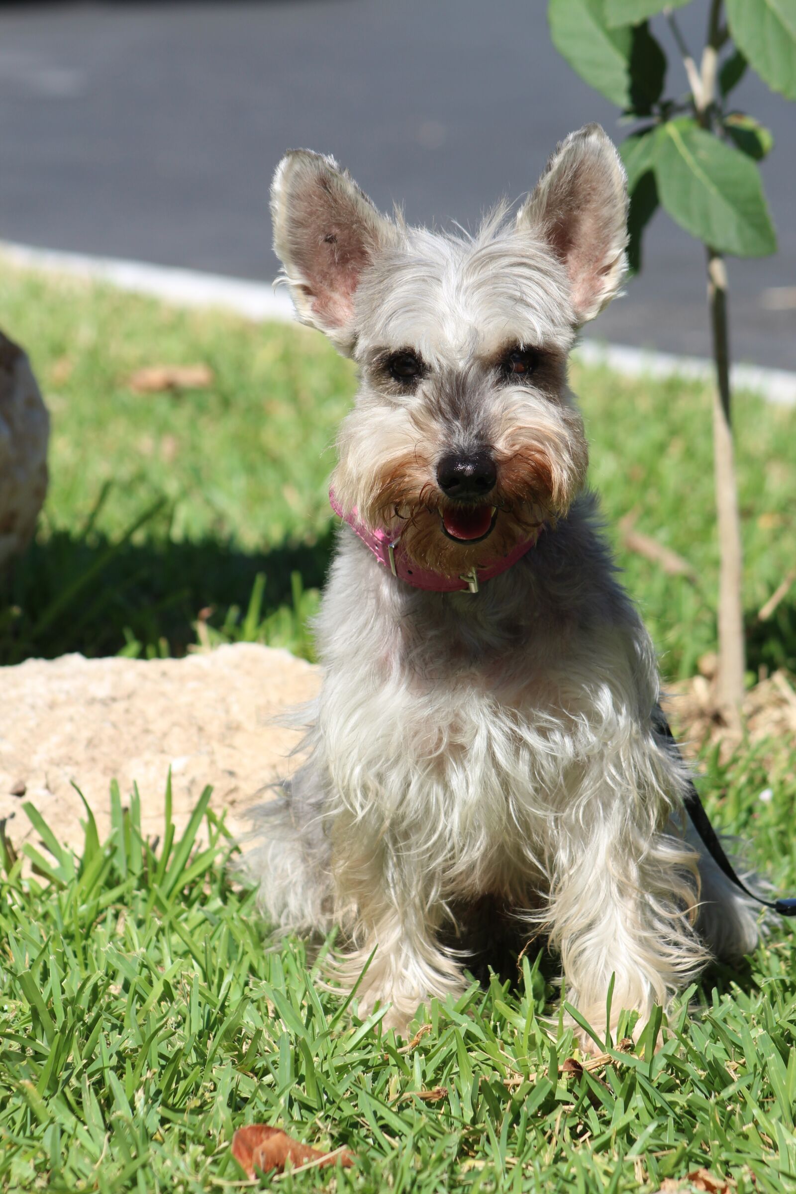
M727 270L721 253L708 250L708 302L712 330L716 389L714 392L714 472L721 566L718 574L718 671L716 703L728 721L736 721L743 700L746 652L741 586L741 519L735 480L730 420Z

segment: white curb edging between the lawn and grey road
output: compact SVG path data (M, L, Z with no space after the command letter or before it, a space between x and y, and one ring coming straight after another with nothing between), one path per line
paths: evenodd
M33 248L10 241L0 241L0 256L12 265L92 278L178 306L224 307L254 320L294 318L286 291L274 290L266 283L198 270L149 265L146 261ZM582 340L576 352L587 364L605 364L630 377L687 377L697 381L710 381L712 377L712 363L703 357L680 357L622 344L603 344L599 340ZM736 389L759 393L771 402L796 405L796 373L759 365L734 365L732 378Z

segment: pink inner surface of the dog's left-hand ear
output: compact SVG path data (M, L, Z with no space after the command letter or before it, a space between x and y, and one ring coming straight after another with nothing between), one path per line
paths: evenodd
M313 171L289 196L291 272L302 279L313 314L328 327L351 319L354 291L376 247L368 199L352 195L351 185Z

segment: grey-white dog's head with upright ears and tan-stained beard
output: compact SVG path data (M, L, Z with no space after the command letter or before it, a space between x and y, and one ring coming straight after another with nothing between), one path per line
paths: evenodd
M588 460L567 388L578 327L617 293L625 177L599 125L573 133L517 217L475 236L388 220L332 158L288 153L274 248L300 319L352 356L333 484L371 530L457 576L566 513Z

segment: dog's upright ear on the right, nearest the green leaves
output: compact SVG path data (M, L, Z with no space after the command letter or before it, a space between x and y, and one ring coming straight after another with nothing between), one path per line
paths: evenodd
M570 133L517 215L563 261L578 324L594 319L625 271L628 186L613 143L599 124Z

